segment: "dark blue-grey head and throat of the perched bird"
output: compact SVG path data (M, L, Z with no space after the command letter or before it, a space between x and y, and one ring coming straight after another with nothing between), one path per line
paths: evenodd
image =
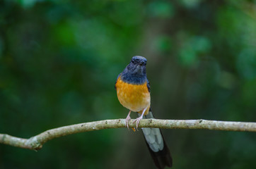
M142 56L132 57L131 62L122 72L121 79L131 84L146 82L146 58Z

